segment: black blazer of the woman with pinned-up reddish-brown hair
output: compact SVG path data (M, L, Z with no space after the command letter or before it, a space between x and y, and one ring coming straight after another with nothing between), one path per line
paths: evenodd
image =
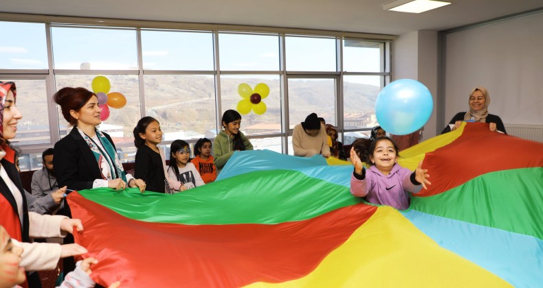
M111 137L102 133L115 149ZM58 187L67 186L72 190L92 189L94 180L102 179L96 158L75 127L55 143L53 167Z

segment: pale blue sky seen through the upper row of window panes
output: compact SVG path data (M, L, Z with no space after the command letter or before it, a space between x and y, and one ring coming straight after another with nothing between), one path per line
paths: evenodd
M0 22L0 69L47 69L45 24ZM214 71L211 32L142 30L144 69ZM280 71L279 36L219 33L221 71ZM137 31L52 27L55 69L137 70ZM334 38L287 36L287 71L336 71ZM379 47L344 46L344 71L379 72ZM351 81L379 86L374 77Z

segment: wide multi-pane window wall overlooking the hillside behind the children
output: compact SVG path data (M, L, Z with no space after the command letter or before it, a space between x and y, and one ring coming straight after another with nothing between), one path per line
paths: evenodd
M311 112L336 125L345 144L377 124L375 99L390 77L385 40L131 23L0 22L10 39L0 44L0 79L17 84L23 119L13 142L25 153L23 169L39 167L38 152L69 130L52 94L65 86L92 90L98 75L109 79L110 93L126 98L126 106L109 108L99 127L123 161L133 160L133 128L143 116L160 122L166 149L175 139L191 145L214 139L223 112L237 110L243 99L240 84L252 92L257 85L269 88L261 99L265 112L255 112L254 104L242 112L241 130L255 149L292 154L292 129Z

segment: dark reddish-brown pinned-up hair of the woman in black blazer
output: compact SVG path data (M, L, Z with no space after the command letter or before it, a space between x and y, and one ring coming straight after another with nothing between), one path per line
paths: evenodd
M71 125L76 125L77 119L71 117L69 113L70 110L79 112L93 96L96 96L96 94L88 91L86 88L65 87L57 91L55 95L53 95L53 99L56 104L60 105L64 119Z

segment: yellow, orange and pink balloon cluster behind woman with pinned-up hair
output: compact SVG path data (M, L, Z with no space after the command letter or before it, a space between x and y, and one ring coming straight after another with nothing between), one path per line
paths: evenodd
M109 118L109 107L120 109L126 105L126 97L122 93L109 92L111 84L109 79L105 76L96 76L92 80L92 91L98 97L98 106L102 112L100 112L100 120L106 121Z

